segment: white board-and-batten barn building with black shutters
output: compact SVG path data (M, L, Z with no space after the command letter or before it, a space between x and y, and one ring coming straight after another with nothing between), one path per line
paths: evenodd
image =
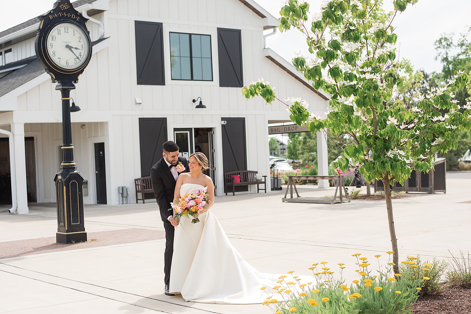
M252 0L73 6L91 17L93 41L91 61L71 92L81 109L71 119L74 159L88 180L86 204L119 204L123 185L136 201L134 179L149 175L166 140L185 155L200 150L209 157L217 195L224 193L224 172L269 175L268 124L289 121L289 113L277 101L245 100L241 87L252 80L263 77L278 97L302 97L312 113L324 115L327 97L264 48L264 30L278 21ZM53 178L61 163L60 92L35 56L38 25L33 18L0 32L0 194L8 198L14 147L17 213L28 212L28 200L56 201ZM198 97L205 108L195 108ZM326 175L326 145L318 147L319 173ZM256 186L245 191L256 193Z

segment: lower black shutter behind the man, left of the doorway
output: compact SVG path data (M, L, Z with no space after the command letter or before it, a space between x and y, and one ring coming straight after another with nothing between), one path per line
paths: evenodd
M167 118L139 118L141 177L162 158L162 144L167 141Z

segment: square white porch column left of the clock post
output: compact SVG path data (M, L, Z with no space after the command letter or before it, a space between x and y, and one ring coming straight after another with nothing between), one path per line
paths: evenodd
M24 152L24 123L10 123L15 138L16 214L27 214L28 191L26 189L26 156Z

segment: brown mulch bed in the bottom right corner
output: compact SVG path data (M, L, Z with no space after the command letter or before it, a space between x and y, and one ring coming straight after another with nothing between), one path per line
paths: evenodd
M471 289L446 288L435 295L424 295L409 309L414 314L470 314Z

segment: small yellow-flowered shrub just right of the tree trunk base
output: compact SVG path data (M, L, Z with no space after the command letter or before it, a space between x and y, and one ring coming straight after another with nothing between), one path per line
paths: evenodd
M408 256L401 262L401 280L414 281L422 278L430 278L422 283L422 294L436 294L443 289L443 275L447 270L447 262L433 258L431 261L422 261L420 256Z

